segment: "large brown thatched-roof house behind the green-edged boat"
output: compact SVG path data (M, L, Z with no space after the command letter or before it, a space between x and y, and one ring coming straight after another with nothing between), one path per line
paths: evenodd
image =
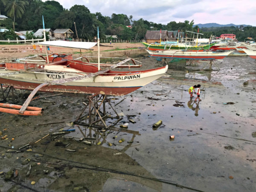
M145 38L146 38L146 43L148 43L148 44L155 43L155 42L160 43L160 38L161 38L161 41L167 41L168 31L163 30L160 32L160 31L148 30L146 32Z

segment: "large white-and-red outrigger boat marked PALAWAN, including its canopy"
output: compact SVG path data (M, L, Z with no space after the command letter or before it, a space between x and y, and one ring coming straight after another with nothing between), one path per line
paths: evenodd
M47 41L37 44L85 49L96 43ZM131 58L127 58L105 70L87 65L83 61L69 59L56 60L47 64L9 62L0 64L0 83L26 90L34 90L39 85L45 84L38 90L121 96L160 78L168 69L168 66L165 66L150 70L113 70L130 60Z

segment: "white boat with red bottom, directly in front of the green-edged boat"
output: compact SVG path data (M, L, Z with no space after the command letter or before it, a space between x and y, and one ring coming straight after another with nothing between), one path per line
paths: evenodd
M182 51L182 50L157 50L151 51L146 49L150 57L157 58L182 58L182 59L222 59L234 51L212 52L212 51Z

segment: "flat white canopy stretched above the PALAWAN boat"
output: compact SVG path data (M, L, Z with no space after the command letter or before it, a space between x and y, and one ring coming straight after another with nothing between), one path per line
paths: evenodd
M43 41L35 43L36 45L44 45L51 47L67 47L75 49L90 49L94 47L97 42L79 42L79 41Z

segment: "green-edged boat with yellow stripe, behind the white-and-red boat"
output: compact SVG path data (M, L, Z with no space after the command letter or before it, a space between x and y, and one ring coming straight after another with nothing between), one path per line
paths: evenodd
M186 44L178 44L178 45L172 45L172 44L157 44L157 43L145 43L142 42L145 47L151 51L155 50L167 50L167 49L188 49L188 50L198 50L198 49L210 49L212 46L214 46L216 43L204 45L204 46L195 46L195 45L186 45Z

